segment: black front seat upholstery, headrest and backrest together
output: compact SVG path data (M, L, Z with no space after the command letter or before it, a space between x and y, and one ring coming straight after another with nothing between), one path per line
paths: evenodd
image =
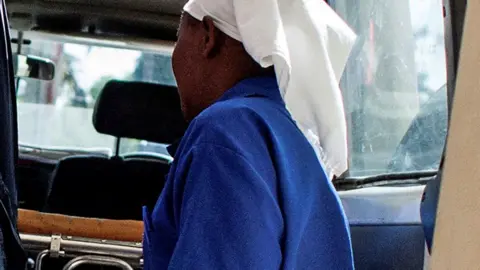
M181 135L182 121L175 88L134 82L109 82L93 114L100 133L158 143ZM155 204L168 169L166 160L152 157L67 157L55 169L45 211L141 220L142 206Z

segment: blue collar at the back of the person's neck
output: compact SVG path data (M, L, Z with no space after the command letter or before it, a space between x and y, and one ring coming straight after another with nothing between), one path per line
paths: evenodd
M275 102L284 103L280 95L277 79L273 76L245 79L227 90L217 102L254 96L261 96Z

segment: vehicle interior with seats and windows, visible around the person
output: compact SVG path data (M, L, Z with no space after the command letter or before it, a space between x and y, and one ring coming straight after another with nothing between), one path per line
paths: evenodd
M141 207L187 127L170 62L185 2L5 1L31 269L142 269ZM426 269L421 203L440 181L466 1L327 2L358 36L340 82L350 165L334 180L355 267ZM37 70L19 75L22 59Z

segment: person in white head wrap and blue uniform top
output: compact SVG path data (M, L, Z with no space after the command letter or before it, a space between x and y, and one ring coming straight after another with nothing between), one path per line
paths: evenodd
M328 176L338 171L335 166L327 171L338 156L331 158L327 142L344 139L333 132L342 130L344 121L337 118L328 126L330 116L314 116L320 123L315 129L294 108L303 100L314 105L303 103L308 115L316 113L312 100L320 96L320 107L330 108L329 115L342 115L336 110L342 109L335 99L338 81L329 80L340 77L348 52L341 57L322 52L343 50L354 37L349 29L346 35L334 31L344 23L324 4L309 10L319 10L317 15L330 18L333 26L310 42L302 33L316 30L289 27L287 22L294 22L286 16L265 14L275 8L260 7L281 0L242 1L191 0L184 7L172 65L189 127L172 151L174 162L156 205L143 209L144 268L353 269L348 223ZM310 21L310 26L323 23ZM282 51L290 43L282 44L280 36L307 49L308 44L323 47L296 58L296 52L305 51ZM266 54L259 52L266 47ZM303 72L312 74L305 75L310 82L304 81L297 59L311 59L320 73L304 66ZM312 87L312 81L319 85ZM336 137L320 134L326 139L318 148L312 134L324 129ZM338 147L340 156L342 151Z

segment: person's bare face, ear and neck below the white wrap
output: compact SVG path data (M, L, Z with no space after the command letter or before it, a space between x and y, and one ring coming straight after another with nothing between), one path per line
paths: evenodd
M212 18L199 21L187 12L180 21L172 65L188 121L239 81L274 74L272 69L261 68L242 43L218 30Z

